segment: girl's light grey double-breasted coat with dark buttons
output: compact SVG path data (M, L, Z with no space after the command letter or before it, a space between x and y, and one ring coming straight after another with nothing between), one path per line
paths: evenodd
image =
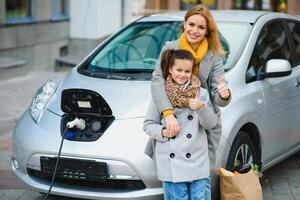
M154 160L161 181L187 182L207 178L210 174L207 137L204 129L217 123L206 89L200 89L199 98L204 106L193 111L175 108L174 114L181 124L175 139L162 136L165 121L156 105L151 102L145 117L144 131L154 141Z

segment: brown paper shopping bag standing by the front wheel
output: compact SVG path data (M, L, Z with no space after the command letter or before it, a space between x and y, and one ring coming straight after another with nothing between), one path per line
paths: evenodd
M256 173L253 171L238 175L230 173L224 173L224 169L220 170L221 200L263 200Z

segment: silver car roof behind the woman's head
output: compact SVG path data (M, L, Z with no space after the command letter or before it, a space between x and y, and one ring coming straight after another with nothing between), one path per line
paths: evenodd
M182 21L186 11L167 12L161 14L152 14L141 18L138 22L151 21ZM289 16L283 13L275 13L269 11L249 11L249 10L212 10L212 14L216 21L230 22L248 22L255 23L262 15L286 17Z

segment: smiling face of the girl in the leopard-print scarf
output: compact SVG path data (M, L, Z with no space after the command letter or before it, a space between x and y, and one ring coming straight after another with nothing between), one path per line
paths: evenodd
M173 81L182 85L186 83L192 76L193 62L187 59L174 60L174 65L169 69Z

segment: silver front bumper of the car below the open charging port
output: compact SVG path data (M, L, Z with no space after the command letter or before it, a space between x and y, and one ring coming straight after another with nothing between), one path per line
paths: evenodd
M46 193L49 189L49 180L28 174L28 171L41 171L41 156L57 155L61 140L60 120L60 116L45 111L40 123L35 124L26 111L15 128L12 157L17 160L18 168L13 164L12 169L33 190ZM65 140L61 156L105 162L111 180L141 181L144 188L115 189L55 183L51 194L87 199L162 199L163 190L156 180L154 163L143 153L147 136L142 124L143 119L116 120L97 141Z

